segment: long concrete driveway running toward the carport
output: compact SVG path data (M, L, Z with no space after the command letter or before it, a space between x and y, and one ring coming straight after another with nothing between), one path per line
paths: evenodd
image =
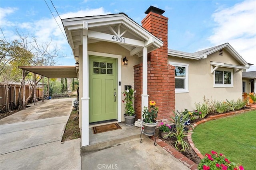
M0 120L1 170L79 170L80 139L62 142L72 98L40 101Z

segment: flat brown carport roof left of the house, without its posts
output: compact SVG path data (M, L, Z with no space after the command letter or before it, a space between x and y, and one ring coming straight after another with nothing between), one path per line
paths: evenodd
M48 78L77 78L76 66L18 66Z

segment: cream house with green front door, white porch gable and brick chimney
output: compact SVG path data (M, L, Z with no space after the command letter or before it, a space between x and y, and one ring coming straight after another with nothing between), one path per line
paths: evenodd
M126 85L136 90L136 117L155 100L158 121L170 120L174 110L194 109L203 96L241 97L248 63L228 43L196 53L168 49L163 13L150 6L142 26L124 13L62 19L79 63L82 147L89 145L90 123L124 121L121 92Z

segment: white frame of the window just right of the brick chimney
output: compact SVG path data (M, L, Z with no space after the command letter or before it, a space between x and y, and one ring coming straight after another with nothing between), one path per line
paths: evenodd
M185 67L185 78L180 77L174 77L174 79L185 79L185 88L175 88L175 93L188 93L188 66L189 64L186 63L176 63L176 62L169 62L172 66L178 66L178 67ZM175 76L175 75L174 75Z

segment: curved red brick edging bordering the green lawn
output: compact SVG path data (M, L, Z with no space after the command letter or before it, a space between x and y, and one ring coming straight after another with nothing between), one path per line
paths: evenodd
M205 123L206 121L216 120L216 119L220 119L222 117L227 117L227 116L231 116L231 115L237 115L237 114L244 113L244 112L247 112L247 111L252 111L252 110L256 110L256 106L252 106L252 108L250 108L250 109L244 109L244 110L240 110L240 111L232 111L232 112L229 112L229 113L222 113L222 114L219 114L219 115L210 116L206 119L203 119L201 121L198 121L198 122L194 123L193 126L196 127L197 125L199 125L201 123ZM199 158L202 159L202 158L204 158L204 155L201 154L201 152L195 147L194 142L192 141L192 131L193 130L190 128L189 132L188 132L188 136L187 136L188 137L188 143L192 147L192 149L196 152L196 154L199 156Z

